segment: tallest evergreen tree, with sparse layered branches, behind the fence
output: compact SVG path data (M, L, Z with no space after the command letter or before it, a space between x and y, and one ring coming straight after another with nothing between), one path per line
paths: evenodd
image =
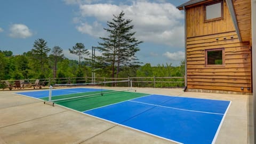
M114 15L112 21L107 22L108 28L104 28L109 35L108 37L100 37L102 43L96 47L102 56L97 56L98 63L108 65L111 67L111 77L118 78L118 73L121 66L130 66L138 63L135 53L140 49L138 45L142 41L137 40L131 32L134 26L130 25L132 20L124 19L124 12L122 11L117 16ZM102 67L102 66L101 66Z

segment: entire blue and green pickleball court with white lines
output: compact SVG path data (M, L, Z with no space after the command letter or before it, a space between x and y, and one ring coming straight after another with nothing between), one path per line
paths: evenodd
M48 100L49 90L17 94ZM224 100L87 88L54 89L52 101L178 143L214 143L230 105Z

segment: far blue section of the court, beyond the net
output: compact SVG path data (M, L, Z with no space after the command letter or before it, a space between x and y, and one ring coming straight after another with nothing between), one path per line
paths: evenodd
M105 89L90 89L90 88L53 89L52 96L77 94L80 92L92 92L92 91L101 91L101 90L105 90ZM43 98L43 97L49 96L49 90L17 92L16 94L34 97L34 98Z

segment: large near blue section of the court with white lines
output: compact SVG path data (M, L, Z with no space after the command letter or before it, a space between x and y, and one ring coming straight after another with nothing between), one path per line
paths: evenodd
M85 111L178 143L214 143L230 101L149 95Z

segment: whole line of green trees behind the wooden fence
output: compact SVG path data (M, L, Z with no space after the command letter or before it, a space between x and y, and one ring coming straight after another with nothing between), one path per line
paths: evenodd
M93 46L92 53L83 43L76 43L69 48L71 54L78 56L78 61L69 60L59 46L49 48L47 41L36 39L33 48L22 55L13 55L10 50L0 50L0 80L44 79L90 77L127 78L127 77L183 77L184 61L180 66L171 64L151 66L142 65L135 54L143 43L134 37L132 20L124 18L125 13L113 15L107 22L107 37L100 37L98 46ZM101 55L95 55L98 50Z

